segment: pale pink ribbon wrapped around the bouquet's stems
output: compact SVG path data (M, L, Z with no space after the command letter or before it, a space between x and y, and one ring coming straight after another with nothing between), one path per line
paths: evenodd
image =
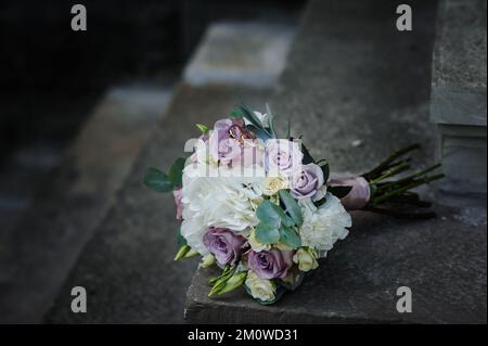
M331 179L331 187L352 187L352 190L341 200L346 210L359 210L370 202L371 189L362 177Z

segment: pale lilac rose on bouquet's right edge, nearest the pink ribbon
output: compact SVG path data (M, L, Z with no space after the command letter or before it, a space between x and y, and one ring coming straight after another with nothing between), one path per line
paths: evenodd
M290 193L297 200L316 197L317 192L323 185L322 169L316 164L301 166L301 172L292 178Z

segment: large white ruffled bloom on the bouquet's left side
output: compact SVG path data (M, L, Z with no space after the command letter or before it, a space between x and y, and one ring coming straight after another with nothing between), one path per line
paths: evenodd
M193 249L206 255L203 235L209 227L247 235L247 230L259 223L255 209L261 198L264 170L249 167L243 174L243 167L197 166L189 165L183 170L181 234Z

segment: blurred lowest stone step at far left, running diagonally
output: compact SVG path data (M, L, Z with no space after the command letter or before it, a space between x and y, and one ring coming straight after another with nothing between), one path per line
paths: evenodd
M42 321L84 244L113 204L169 94L169 88L111 89L31 205L16 225L2 230L0 322ZM24 180L34 190L35 179L24 176L17 175L16 183Z

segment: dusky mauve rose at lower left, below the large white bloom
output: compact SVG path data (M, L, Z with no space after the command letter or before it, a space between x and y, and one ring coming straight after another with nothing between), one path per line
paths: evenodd
M246 244L244 236L227 228L210 228L203 238L205 247L215 256L219 265L232 265L239 259L242 247Z

